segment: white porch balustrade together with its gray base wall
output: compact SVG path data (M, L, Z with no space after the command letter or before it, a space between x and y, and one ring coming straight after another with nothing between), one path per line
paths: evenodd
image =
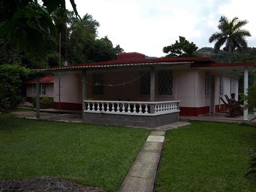
M179 102L84 100L83 122L155 128L179 121Z

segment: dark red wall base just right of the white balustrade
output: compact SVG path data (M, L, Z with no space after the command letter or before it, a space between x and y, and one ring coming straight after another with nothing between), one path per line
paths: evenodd
M194 116L202 115L210 112L210 106L206 107L180 107L180 116Z

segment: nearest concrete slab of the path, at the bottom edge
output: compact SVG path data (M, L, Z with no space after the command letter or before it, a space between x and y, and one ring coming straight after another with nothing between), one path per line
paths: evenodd
M154 179L126 177L119 192L149 192L154 190Z

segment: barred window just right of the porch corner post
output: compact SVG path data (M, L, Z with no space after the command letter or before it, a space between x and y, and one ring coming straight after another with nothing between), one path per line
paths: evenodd
M158 95L173 95L173 71L158 72Z

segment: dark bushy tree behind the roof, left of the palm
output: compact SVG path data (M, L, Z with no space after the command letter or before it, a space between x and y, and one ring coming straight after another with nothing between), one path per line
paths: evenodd
M167 53L166 58L172 57L195 57L195 51L198 47L193 43L189 43L185 37L179 36L179 42L165 46L163 52Z

